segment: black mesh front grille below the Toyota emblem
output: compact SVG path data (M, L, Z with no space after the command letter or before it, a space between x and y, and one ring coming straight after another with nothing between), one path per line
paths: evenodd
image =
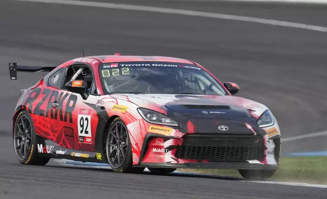
M186 135L175 156L208 161L263 159L265 144L261 136Z

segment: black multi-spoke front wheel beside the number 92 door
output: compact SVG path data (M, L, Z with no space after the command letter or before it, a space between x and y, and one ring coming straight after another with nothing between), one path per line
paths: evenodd
M117 173L142 173L145 169L133 168L127 127L119 117L115 118L107 132L106 157L111 169Z

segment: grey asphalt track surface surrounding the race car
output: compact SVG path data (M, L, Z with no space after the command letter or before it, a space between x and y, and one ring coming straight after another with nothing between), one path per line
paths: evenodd
M99 0L100 1L100 0ZM103 0L103 2L105 2ZM327 26L327 7L219 1L116 0L110 3L178 8ZM312 30L173 14L0 1L0 198L326 198L321 188L259 184L237 178L174 174L116 174L18 163L11 117L19 90L44 73L18 74L8 62L59 65L87 55L164 55L187 58L238 96L267 105L283 138L327 130L327 34ZM282 152L327 150L327 137L287 142Z

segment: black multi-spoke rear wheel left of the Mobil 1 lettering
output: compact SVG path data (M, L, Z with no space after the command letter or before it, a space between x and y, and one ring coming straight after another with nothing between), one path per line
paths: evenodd
M45 165L50 158L38 157L35 128L29 113L19 113L15 121L13 141L17 159L22 164Z

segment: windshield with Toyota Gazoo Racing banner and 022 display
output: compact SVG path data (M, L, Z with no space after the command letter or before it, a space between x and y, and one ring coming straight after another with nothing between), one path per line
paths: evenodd
M100 66L105 94L225 95L220 84L197 65L173 62L115 62Z

